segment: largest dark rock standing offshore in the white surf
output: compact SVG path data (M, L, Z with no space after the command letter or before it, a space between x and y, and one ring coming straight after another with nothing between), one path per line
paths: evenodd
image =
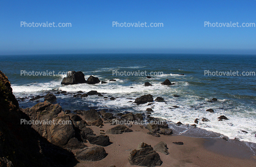
M67 72L67 77L64 77L64 79L62 79L62 82L61 82L61 84L64 84L64 85L72 85L72 84L78 84L78 83L86 83L85 74L83 74L81 71Z

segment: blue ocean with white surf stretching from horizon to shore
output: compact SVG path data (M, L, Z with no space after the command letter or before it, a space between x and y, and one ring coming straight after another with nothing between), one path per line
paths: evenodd
M1 55L0 59L0 70L9 77L13 94L16 98L24 98L19 101L22 108L43 102L43 98L30 101L33 96L52 92L63 110L95 108L113 113L146 113L146 108L152 107L152 116L166 119L178 135L214 138L223 135L230 139L256 143L255 55L59 54ZM56 76L21 75L24 71L61 73ZM82 71L85 79L94 75L107 83L61 85L61 80L65 77L62 72L67 71ZM119 74L124 71L129 72L127 74L147 71L146 76L150 76L151 72L157 75L153 75L151 79L145 75L116 76L113 74L116 71ZM205 75L205 71L211 72L212 76ZM222 71L222 76L214 76L216 71ZM228 75L230 71L238 71L238 76ZM249 76L250 72L254 74ZM244 76L240 76L242 73ZM110 82L110 79L116 81ZM161 85L165 79L176 84ZM145 87L145 82L152 86ZM99 96L73 97L77 91L86 93L91 90L96 90L108 98L115 97L116 100L106 100ZM56 94L57 91L67 91L67 94ZM152 105L135 104L135 99L144 94L152 94L154 99L162 97L165 102L154 102ZM208 102L212 98L217 98L218 101ZM175 105L179 108L173 107ZM209 108L214 113L206 112ZM219 121L220 115L227 116L228 120ZM200 132L195 130L198 128L189 126L195 124L196 118L200 119L197 127L203 129ZM203 122L202 118L209 121ZM179 121L184 125L174 124Z

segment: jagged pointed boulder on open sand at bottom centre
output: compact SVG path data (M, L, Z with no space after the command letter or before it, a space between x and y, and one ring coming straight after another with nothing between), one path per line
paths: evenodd
M163 163L159 154L150 145L143 142L138 145L137 149L130 152L129 162L130 165L138 166L160 166Z

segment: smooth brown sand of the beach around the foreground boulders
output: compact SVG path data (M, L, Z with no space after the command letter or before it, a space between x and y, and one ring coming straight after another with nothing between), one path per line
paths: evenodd
M104 124L103 128L91 126L96 135L100 130L105 132L114 127L110 124ZM148 135L148 129L133 125L130 129L134 132L127 132L117 135L107 134L112 144L104 147L107 157L97 162L80 161L78 166L111 166L116 167L136 166L130 165L128 157L130 151L136 149L141 142L150 144L152 147L160 141L167 143L168 152L165 155L158 152L162 160L161 166L256 166L256 158L251 152L243 147L228 144L227 141L216 139L208 140L205 138L192 138L177 135L153 137ZM183 141L183 145L173 144L175 141ZM85 143L87 146L92 144Z

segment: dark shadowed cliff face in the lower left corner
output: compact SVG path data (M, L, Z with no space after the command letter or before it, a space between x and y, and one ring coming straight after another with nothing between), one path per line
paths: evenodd
M49 143L29 125L29 117L19 108L8 78L0 71L0 167L72 166L74 155Z

